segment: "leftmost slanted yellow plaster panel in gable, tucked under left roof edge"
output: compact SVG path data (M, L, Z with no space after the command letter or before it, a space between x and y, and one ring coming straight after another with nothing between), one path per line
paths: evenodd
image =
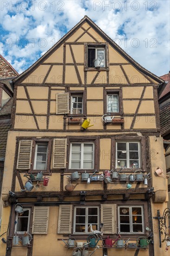
M42 83L49 68L50 65L40 65L25 78L23 83Z

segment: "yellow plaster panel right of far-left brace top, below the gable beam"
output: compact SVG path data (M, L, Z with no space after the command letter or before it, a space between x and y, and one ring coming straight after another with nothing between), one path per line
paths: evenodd
M40 86L34 86L34 87L27 87L28 94L30 96L30 99L48 99L48 87L40 87Z

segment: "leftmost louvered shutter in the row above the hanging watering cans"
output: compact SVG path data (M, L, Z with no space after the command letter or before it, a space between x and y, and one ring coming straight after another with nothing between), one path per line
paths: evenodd
M27 170L31 166L32 141L19 141L17 169Z

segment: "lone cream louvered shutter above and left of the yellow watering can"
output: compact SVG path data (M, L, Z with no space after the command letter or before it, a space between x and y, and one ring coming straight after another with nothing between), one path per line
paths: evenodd
M56 114L69 114L69 93L56 94Z

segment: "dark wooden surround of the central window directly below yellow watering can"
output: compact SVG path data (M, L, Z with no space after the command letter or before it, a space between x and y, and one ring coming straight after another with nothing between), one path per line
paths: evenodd
M93 142L94 143L94 168L93 169L70 169L69 168L69 159L70 159L70 148L71 148L71 143L72 142ZM87 172L93 172L94 170L98 170L99 169L99 161L100 161L100 155L99 155L99 137L91 137L91 136L87 136L87 137L77 137L77 136L68 136L67 137L67 166L66 166L66 172L74 172L77 171L78 172L84 172L84 170L86 170Z

